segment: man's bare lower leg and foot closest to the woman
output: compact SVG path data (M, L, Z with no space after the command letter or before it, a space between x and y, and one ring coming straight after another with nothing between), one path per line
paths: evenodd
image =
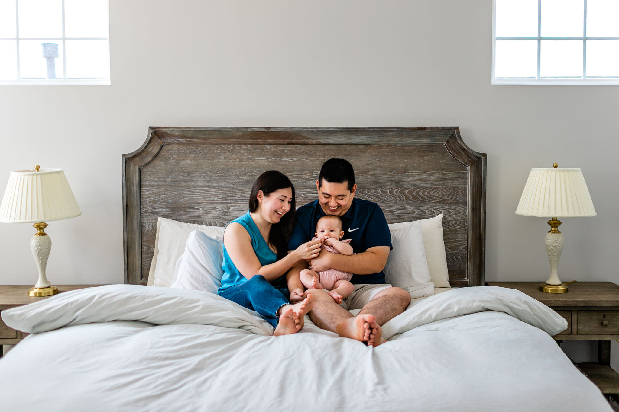
M309 289L314 296L314 306L309 313L309 319L321 329L331 330L341 337L352 338L368 345L374 344L377 329L376 316L363 314L352 316L342 306L337 305L333 298L322 289Z

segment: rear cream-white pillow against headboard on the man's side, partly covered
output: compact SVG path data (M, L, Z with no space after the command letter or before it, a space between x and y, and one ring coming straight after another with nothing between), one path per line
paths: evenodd
M447 254L443 241L443 214L414 222L392 223L389 230L395 232L419 222L422 225L423 248L428 261L428 271L434 287L449 287L449 272L447 270Z

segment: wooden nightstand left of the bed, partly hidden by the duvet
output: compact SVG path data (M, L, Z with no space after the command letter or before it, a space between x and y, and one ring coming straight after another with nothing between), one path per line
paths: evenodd
M58 293L69 290L84 289L100 285L56 285ZM28 305L28 303L38 302L41 299L49 299L52 296L32 297L28 296L28 289L32 285L0 285L0 312L5 309L15 308L16 306ZM25 338L28 334L19 330L11 329L6 326L0 318L0 345L15 345ZM0 356L2 347L0 346Z

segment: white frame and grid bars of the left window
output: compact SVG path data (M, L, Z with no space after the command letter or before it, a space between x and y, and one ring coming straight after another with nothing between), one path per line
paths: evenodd
M63 7L63 36L62 37L20 37L19 36L19 0L15 0L15 37L2 37L0 40L17 40L17 80L0 80L0 86L110 86L110 2L107 2L107 22L108 28L107 37L66 37L64 34L64 0L62 0ZM19 67L19 41L20 40L43 40L43 41L62 41L63 42L63 54L59 56L63 59L63 78L55 79L22 79L20 77ZM67 65L66 65L66 41L67 40L106 40L107 41L107 53L108 53L108 77L107 78L90 78L90 79L72 79L66 78Z

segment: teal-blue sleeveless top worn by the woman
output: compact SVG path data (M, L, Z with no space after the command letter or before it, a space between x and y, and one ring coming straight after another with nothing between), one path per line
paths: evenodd
M249 211L230 223L233 222L241 224L249 233L249 237L251 238L251 247L254 248L254 252L256 253L256 256L258 256L258 261L260 261L262 266L275 263L275 261L277 261L277 254L275 254L275 252L269 248L269 245L267 245L267 242L264 240L264 237L262 237L262 233L260 233L258 226L254 223L254 219L252 219L249 215ZM230 259L230 256L228 255L226 246L223 246L222 269L222 287L217 290L217 293L222 293L231 286L240 285L243 282L247 282L247 278L243 276L241 272L236 269L235 264L232 263L232 259ZM275 279L271 282L271 284L276 288L287 288L285 275Z

